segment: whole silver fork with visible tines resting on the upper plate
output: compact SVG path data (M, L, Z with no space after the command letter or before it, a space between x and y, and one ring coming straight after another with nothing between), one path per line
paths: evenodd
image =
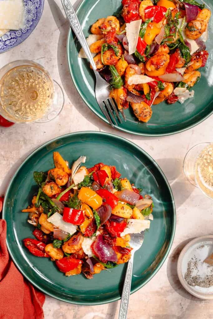
M72 30L74 31L76 37L78 38L82 48L84 49L84 52L92 65L93 71L95 73L96 78L96 85L95 85L95 98L97 100L97 103L102 110L103 114L109 121L110 125L114 127L114 124L118 125L117 119L115 115L117 115L119 122L122 124L122 120L120 118L120 115L118 113L117 106L113 99L109 97L110 94L110 85L100 76L100 74L97 71L95 62L93 60L93 57L91 55L91 52L89 50L87 41L85 39L85 36L83 34L83 31L80 26L80 22L78 20L78 17L72 7L72 4L69 0L61 0L64 11L66 13L66 16L70 22L70 25L72 27ZM113 113L115 112L115 115ZM121 114L123 115L124 120L126 121L126 117L124 115L123 110L121 110ZM114 121L112 122L110 115Z

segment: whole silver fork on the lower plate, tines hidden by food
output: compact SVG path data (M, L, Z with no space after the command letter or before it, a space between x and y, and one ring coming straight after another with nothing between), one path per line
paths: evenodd
M123 286L123 292L121 296L118 319L127 318L127 309L129 304L129 296L130 296L131 283L132 283L134 253L141 247L143 243L144 231L141 232L141 234L130 234L130 236L131 236L131 240L129 244L130 244L130 247L133 248L133 250L131 251L131 258L128 261L128 265L126 268L126 276L124 279L124 286Z

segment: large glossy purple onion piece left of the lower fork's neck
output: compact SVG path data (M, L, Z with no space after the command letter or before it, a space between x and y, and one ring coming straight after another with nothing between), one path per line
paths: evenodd
M118 257L110 245L103 240L103 235L98 235L95 239L93 250L95 255L102 261L117 262Z

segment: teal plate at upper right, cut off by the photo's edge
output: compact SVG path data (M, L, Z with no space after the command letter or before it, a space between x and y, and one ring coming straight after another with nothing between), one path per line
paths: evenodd
M77 15L83 28L84 35L90 34L90 26L99 18L111 16L120 8L120 0L83 0ZM206 0L209 9L213 12L212 0ZM206 42L209 51L209 60L205 68L201 68L201 80L194 87L194 98L186 100L184 104L179 102L167 104L165 102L152 107L153 114L148 123L139 122L133 114L131 107L125 110L127 118L123 124L115 128L124 132L144 135L163 136L175 134L194 127L213 113L213 28L212 18L209 23L209 39ZM73 83L81 98L87 106L104 122L108 123L95 100L95 78L93 71L89 68L87 59L78 58L80 44L74 33L69 31L67 38L67 60Z

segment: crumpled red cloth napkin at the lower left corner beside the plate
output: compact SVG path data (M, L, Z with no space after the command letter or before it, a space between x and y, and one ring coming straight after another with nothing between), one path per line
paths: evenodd
M0 219L0 318L43 319L45 295L18 271L6 246L6 221Z

